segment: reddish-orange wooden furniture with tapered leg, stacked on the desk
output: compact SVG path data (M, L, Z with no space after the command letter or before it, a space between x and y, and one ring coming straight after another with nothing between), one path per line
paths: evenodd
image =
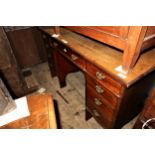
M132 69L141 53L155 45L154 26L65 26L123 51L124 71ZM58 28L57 28L58 29ZM56 31L58 32L58 30ZM61 32L60 32L61 33Z

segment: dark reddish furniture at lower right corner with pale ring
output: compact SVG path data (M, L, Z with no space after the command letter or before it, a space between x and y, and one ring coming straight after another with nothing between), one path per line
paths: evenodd
M134 129L155 129L155 88L150 93Z

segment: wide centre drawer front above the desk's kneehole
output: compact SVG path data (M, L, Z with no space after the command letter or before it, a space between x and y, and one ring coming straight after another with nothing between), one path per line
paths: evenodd
M86 61L80 55L64 46L60 46L59 51L82 70L86 69Z

